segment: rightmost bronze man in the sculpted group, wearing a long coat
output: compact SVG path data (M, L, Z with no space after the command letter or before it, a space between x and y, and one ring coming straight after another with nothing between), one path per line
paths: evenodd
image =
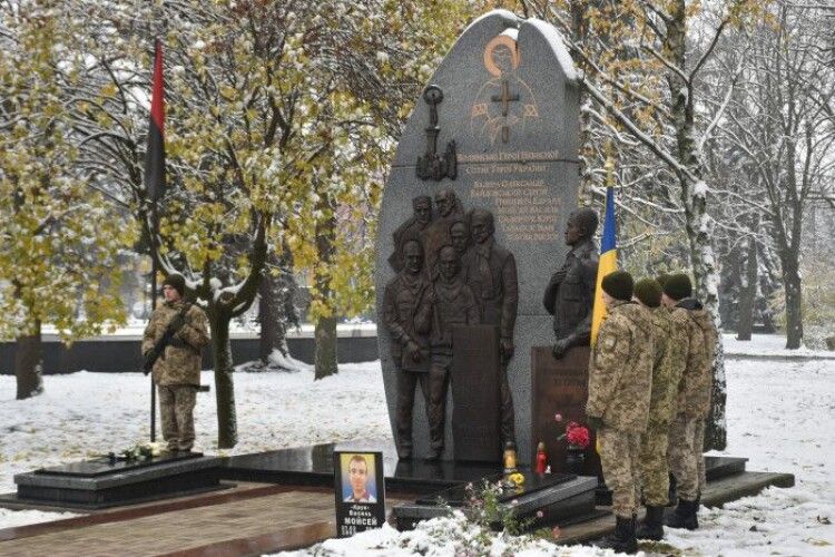
M499 373L502 446L515 447L513 398L508 384L508 362L513 358L513 328L519 305L517 262L513 254L495 242L493 214L477 208L470 215L473 246L466 257L466 284L475 296L481 322L499 328Z

